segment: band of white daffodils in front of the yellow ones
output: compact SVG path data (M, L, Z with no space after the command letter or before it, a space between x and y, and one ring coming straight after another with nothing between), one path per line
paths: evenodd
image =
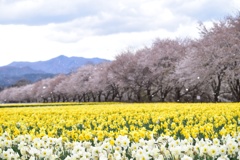
M25 141L18 141L20 139ZM140 139L139 142L130 142L127 136L119 136L114 146L110 144L110 139L106 138L104 141L96 142L93 147L91 142L87 141L63 143L61 138L56 139L47 136L43 137L43 139L35 138L33 140L29 135L20 135L13 140L9 140L9 137L6 139L0 136L0 159L35 160L40 158L50 160L58 159L64 151L70 154L66 157L66 160L121 160L127 158L127 154L131 155L131 157L127 158L129 160L163 160L164 158L191 160L195 154L203 157L210 156L217 160L229 160L230 157L240 159L237 137L231 137L230 135L223 137L223 139L215 138L212 141L209 139L195 139L195 145L186 139L174 140L173 137L169 136L159 137L158 140L163 143L155 144L154 139ZM11 148L12 145L18 147L21 157ZM7 148L7 146L9 147Z

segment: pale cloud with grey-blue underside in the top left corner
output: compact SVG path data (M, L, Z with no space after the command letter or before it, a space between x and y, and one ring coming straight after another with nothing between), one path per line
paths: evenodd
M34 16L73 14L86 1L78 0L12 0L0 1L0 18L18 19Z

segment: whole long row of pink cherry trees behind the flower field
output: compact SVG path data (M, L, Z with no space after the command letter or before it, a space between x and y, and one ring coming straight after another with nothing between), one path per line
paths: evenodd
M240 15L200 27L200 39L157 39L112 62L5 89L0 101L239 102Z

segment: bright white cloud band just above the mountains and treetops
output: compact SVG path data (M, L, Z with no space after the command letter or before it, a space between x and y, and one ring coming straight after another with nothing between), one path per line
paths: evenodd
M54 30L56 26L26 26L26 25L1 25L0 44L1 53L7 54L1 58L0 63L18 61L46 60L60 54L68 56L100 57L114 59L115 55L126 48L141 48L148 46L155 38L175 38L187 35L185 27L180 27L175 33L164 29L145 32L126 32L109 35L89 35L82 33L78 37L78 31L61 32ZM193 29L194 27L188 28ZM81 31L81 30L80 30ZM79 33L80 33L79 31ZM83 32L83 31L82 31ZM62 33L62 34L61 34ZM65 42L68 43L65 43Z

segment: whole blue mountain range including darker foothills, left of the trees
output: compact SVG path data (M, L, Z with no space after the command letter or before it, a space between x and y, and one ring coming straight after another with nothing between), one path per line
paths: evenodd
M109 60L58 56L47 61L12 62L0 67L0 87L11 86L19 80L36 82L57 74L68 74L86 64L99 64Z

